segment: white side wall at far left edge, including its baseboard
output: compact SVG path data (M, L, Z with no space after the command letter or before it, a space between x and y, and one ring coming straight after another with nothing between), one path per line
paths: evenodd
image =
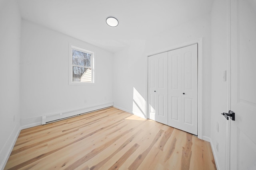
M20 129L20 25L16 0L1 0L0 169L6 164Z

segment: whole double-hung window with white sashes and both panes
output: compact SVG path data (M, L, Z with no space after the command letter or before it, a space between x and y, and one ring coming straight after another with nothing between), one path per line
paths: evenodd
M71 84L94 83L94 53L71 46Z

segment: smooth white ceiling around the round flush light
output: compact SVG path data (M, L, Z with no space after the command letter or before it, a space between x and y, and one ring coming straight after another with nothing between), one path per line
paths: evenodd
M213 0L18 0L25 20L108 51L148 39L211 11ZM117 27L106 18L118 19Z

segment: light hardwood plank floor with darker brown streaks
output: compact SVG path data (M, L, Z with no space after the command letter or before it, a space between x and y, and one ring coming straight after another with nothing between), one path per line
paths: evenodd
M110 107L24 129L6 170L214 170L210 143Z

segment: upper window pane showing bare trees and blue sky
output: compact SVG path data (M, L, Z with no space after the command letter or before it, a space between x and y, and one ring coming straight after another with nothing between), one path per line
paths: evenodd
M91 67L91 55L92 54L72 49L73 64L78 66Z

